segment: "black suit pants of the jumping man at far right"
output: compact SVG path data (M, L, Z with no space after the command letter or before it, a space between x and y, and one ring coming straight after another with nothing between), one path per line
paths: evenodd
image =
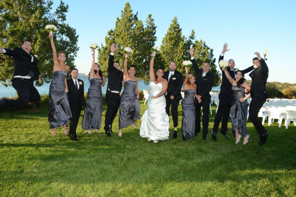
M265 98L252 98L250 107L249 107L249 117L256 128L256 130L259 132L260 135L263 135L267 133L265 128L262 125L262 121L258 117L258 113L265 103L266 99Z

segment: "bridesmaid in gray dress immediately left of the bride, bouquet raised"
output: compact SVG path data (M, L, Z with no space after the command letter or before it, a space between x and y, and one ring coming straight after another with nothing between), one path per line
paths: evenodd
M130 65L127 69L127 58L129 54L125 54L123 64L123 85L124 90L121 95L120 111L119 111L119 131L118 136L121 138L121 130L134 123L137 127L137 120L140 119L140 102L138 90L138 78L134 76L136 67Z

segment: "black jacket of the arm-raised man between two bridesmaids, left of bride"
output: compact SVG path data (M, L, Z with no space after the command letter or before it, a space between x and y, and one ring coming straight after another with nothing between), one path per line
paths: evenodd
M108 62L108 85L107 92L110 90L121 92L123 72L113 66L114 55L109 55Z

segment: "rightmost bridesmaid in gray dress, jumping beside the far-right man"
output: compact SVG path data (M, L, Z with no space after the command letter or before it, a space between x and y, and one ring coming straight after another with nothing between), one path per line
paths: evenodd
M250 93L245 95L245 88L250 90L251 87L245 82L245 75L241 70L236 72L235 80L230 76L227 69L222 68L225 76L232 84L232 106L230 110L230 117L232 122L232 130L235 130L236 142L239 143L241 137L244 138L243 145L249 142L249 134L247 133L247 114L249 103L247 98Z

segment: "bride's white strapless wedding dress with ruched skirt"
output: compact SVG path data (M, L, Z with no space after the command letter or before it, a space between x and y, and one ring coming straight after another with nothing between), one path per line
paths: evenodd
M167 140L169 139L170 122L166 113L166 98L164 95L159 98L150 98L161 92L162 83L155 84L151 81L150 90L147 110L141 119L140 136L151 140Z

